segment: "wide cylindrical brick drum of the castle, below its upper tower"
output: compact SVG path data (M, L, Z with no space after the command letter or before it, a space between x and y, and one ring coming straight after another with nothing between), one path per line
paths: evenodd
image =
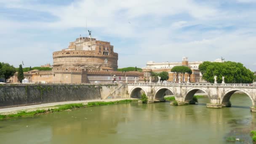
M117 70L117 60L118 54L113 51L107 55L97 51L56 51L53 52L53 70Z

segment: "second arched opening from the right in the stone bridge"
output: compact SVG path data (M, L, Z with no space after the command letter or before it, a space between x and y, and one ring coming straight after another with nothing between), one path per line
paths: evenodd
M200 103L203 103L203 104L210 103L210 99L208 98L208 93L203 89L193 88L193 89L189 90L185 94L184 101L186 103L189 103L189 101L193 100L193 97L196 97L198 102L200 101Z

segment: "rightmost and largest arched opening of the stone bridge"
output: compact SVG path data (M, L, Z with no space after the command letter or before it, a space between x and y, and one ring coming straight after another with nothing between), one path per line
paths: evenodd
M250 100L248 99L250 98ZM226 107L233 106L247 106L254 105L254 101L249 93L243 90L232 89L227 91L221 99L221 104Z

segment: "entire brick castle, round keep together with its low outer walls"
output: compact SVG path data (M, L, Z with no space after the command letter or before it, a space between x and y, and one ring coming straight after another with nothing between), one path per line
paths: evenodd
M144 79L144 72L117 71L118 54L110 42L79 37L68 48L53 52L51 71L24 72L29 83L112 83ZM10 79L17 83L17 73Z

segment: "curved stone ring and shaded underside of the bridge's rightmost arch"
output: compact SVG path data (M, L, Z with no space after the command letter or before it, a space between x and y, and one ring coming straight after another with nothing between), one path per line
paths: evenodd
M249 98L251 99L251 102L253 104L253 106L255 106L255 102L253 100L253 97L251 96L250 93L248 93L248 91L242 89L242 88L231 88L227 91L224 92L224 94L221 96L221 99L220 99L220 103L222 105L227 105L228 102L229 102L229 99L230 97L232 96L232 94L234 94L236 91L241 91L243 93L245 93L247 96L249 96Z

